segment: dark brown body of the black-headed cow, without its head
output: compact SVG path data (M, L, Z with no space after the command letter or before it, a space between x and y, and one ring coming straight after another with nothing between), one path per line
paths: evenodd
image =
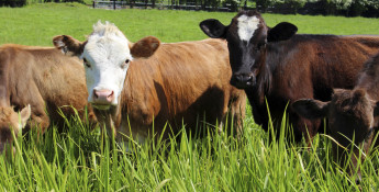
M245 89L254 118L267 129L267 98L271 117L280 123L287 102L302 98L331 100L334 88L353 89L365 61L379 49L379 36L294 35L267 45L266 64L256 88ZM321 120L306 120L289 105L296 139L313 137ZM306 128L305 128L306 127ZM309 137L305 137L309 138Z

